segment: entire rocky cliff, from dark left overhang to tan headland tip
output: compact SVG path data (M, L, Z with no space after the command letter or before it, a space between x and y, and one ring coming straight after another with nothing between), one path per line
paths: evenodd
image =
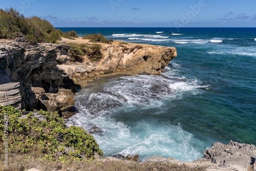
M72 108L73 93L80 88L73 80L110 73L160 74L177 56L175 48L161 46L101 44L101 47L100 61L92 62L84 56L83 62L66 63L69 46L0 41L0 104L62 114Z

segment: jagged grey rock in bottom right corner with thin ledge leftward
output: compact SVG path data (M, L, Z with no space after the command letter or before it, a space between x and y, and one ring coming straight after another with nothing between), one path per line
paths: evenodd
M256 147L255 145L242 144L230 141L228 144L220 142L214 143L204 151L204 157L192 162L182 162L174 158L163 158L154 156L147 158L147 162L169 162L179 165L186 164L191 167L205 166L208 171L215 170L237 170L254 171L256 167Z

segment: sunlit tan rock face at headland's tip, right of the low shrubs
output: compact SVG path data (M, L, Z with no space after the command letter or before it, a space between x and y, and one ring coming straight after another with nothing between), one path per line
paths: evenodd
M177 56L175 48L154 45L104 45L103 59L98 65L112 71L131 71L136 74L160 74L170 60Z

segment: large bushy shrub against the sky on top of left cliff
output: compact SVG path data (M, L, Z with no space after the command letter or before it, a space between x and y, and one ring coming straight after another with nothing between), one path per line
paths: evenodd
M32 43L60 40L59 32L46 19L37 16L27 18L13 8L0 9L0 23L0 38L25 36Z

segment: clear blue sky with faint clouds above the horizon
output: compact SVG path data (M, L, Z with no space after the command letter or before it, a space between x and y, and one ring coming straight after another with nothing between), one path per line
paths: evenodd
M256 27L255 0L8 0L54 27Z

